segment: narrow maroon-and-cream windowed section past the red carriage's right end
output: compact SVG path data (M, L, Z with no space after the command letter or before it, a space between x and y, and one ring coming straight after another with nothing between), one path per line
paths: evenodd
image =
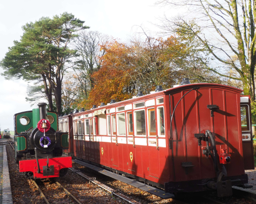
M254 169L250 97L241 96L240 103L244 169L248 170Z

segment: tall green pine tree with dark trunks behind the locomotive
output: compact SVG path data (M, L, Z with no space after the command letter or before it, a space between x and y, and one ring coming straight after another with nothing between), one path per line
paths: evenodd
M9 47L1 62L5 70L3 75L6 79L15 77L43 82L49 109L53 109L54 94L57 112L60 113L63 74L76 54L68 45L78 31L89 28L83 23L67 12L27 23L23 27L22 38L14 41L14 46Z

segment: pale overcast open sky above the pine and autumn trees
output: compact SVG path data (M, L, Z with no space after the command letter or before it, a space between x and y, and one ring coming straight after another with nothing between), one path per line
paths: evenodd
M84 20L90 30L113 36L115 39L126 41L136 32L137 25L142 26L151 34L160 30L159 18L164 14L174 15L177 11L172 8L156 6L157 0L10 0L0 2L0 60L5 57L8 47L13 46L14 40L20 40L23 35L22 26L34 22L41 17L53 17L63 12L72 13ZM0 67L0 73L3 73ZM14 130L13 115L38 108L31 107L26 101L28 82L23 80L5 80L0 75L0 128Z

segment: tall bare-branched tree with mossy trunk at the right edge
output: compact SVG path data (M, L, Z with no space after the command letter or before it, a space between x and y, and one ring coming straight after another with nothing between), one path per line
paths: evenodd
M197 38L201 46L217 61L204 63L208 69L221 77L243 82L244 94L255 100L254 69L255 49L255 3L247 0L163 0L160 4L181 6L188 9L189 18L165 17L162 28L169 33ZM189 12L191 11L191 12ZM236 56L239 63L232 56ZM212 64L217 64L211 67ZM221 66L220 66L221 65ZM237 76L224 73L225 68L236 70Z

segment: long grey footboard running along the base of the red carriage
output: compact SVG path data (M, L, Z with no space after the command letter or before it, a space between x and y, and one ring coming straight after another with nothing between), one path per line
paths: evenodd
M88 164L86 162L82 162L80 160L72 160L73 162L77 163L77 164L80 164L82 166L86 166L90 169L93 169L94 171L97 171L99 173L102 173L106 176L109 176L109 177L112 177L113 179L116 179L116 180L119 180L125 184L128 184L128 185L131 185L131 186L134 186L136 188L139 188L143 191L146 191L148 193L151 193L151 194L154 194L154 195L157 195L159 196L160 198L163 198L163 199L168 199L168 198L174 198L174 194L172 193L165 193L164 191L158 189L158 188L154 188L152 186L148 186L146 184L142 184L141 182L137 182L137 181L134 181L132 179L129 179L125 176L122 176L122 175L119 175L119 174L116 174L116 173L113 173L111 171L108 171L108 170L105 170L105 169L102 169L100 167L97 167L97 166L94 166L92 164Z

